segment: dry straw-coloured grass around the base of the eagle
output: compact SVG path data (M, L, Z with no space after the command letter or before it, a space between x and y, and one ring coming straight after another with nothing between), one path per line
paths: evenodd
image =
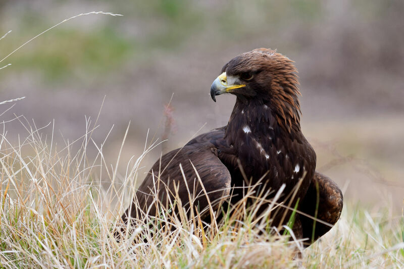
M290 235L268 233L271 210L251 221L254 210L240 209L203 229L197 215L188 220L185 214L173 216L161 206L159 218L139 221L126 239L117 242L113 231L119 213L133 197L142 158L156 144L130 160L126 175L120 176L112 169L119 160L114 166L106 164L105 141L95 144L91 134L96 126L90 125L88 120L86 134L63 146L54 143L53 136L41 134L53 130L52 125L44 130L24 122L28 135L15 144L4 129L0 140L2 266L404 266L402 219L391 216L387 206L365 211L348 203L336 227L304 250L301 259L295 257L299 242L288 240ZM90 157L88 152L94 148L96 153ZM161 225L168 220L169 225Z

